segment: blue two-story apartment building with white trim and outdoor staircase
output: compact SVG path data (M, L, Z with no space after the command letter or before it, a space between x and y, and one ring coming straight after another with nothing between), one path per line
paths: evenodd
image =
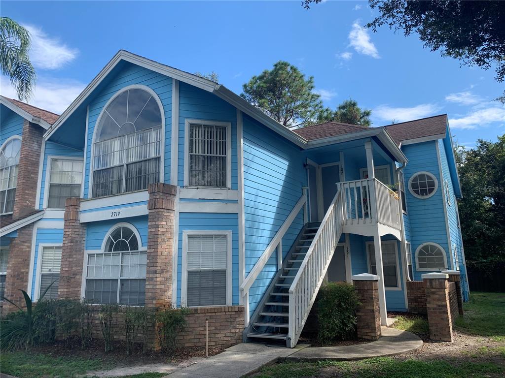
M245 340L294 346L324 282L378 275L385 324L407 281L466 277L446 115L289 130L123 50L60 116L0 104L9 299L57 280L48 297L229 307Z

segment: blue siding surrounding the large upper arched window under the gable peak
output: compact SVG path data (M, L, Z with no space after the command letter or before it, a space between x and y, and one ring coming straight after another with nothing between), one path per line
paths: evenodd
M89 193L89 170L91 167L91 144L98 116L106 103L124 87L141 84L152 89L160 98L165 115L165 156L164 156L164 181L170 182L170 151L172 143L172 79L133 64L126 64L105 88L100 91L89 103L88 135L86 137L86 174L84 178L84 198Z

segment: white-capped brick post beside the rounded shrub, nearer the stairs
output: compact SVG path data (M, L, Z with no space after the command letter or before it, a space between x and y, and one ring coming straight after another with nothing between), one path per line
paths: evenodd
M379 276L362 273L351 278L361 303L356 312L358 338L377 340L382 335L380 329Z

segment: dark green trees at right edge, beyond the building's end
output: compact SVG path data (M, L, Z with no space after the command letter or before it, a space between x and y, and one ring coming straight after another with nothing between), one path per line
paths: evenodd
M505 261L505 135L458 149L463 198L458 201L465 256L469 261Z

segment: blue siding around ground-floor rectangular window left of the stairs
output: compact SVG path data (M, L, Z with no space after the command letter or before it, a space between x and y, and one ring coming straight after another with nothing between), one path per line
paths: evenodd
M232 300L238 304L238 214L179 213L179 242L177 247L177 306L181 305L182 231L231 231Z

